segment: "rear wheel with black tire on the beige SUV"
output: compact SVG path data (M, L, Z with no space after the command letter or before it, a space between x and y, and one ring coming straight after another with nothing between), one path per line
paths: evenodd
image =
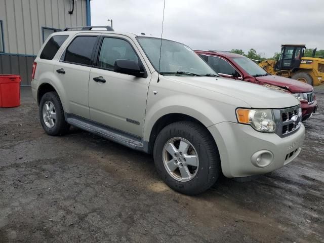
M45 132L51 136L63 135L70 128L65 121L63 106L56 92L43 95L39 102L39 119Z

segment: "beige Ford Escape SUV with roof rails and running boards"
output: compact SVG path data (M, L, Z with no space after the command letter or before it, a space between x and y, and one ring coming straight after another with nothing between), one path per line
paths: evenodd
M92 27L53 33L31 85L46 133L62 135L72 125L151 153L160 177L185 194L207 190L221 173L279 169L305 136L292 95L228 82L167 39Z

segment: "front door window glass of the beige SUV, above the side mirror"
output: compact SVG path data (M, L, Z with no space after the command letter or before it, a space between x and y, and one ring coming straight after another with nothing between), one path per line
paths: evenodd
M98 67L112 70L117 59L126 59L139 63L135 51L127 41L105 37L100 49Z

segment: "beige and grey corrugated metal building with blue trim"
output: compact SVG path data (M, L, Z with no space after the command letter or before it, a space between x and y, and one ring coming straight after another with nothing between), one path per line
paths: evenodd
M32 63L46 38L69 26L91 25L90 0L0 0L0 74L29 86Z

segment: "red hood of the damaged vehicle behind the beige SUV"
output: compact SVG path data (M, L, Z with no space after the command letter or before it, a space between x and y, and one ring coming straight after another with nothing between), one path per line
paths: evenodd
M256 77L256 79L261 83L275 85L284 89L288 89L292 93L313 91L313 87L311 85L287 77L268 75L268 76Z

